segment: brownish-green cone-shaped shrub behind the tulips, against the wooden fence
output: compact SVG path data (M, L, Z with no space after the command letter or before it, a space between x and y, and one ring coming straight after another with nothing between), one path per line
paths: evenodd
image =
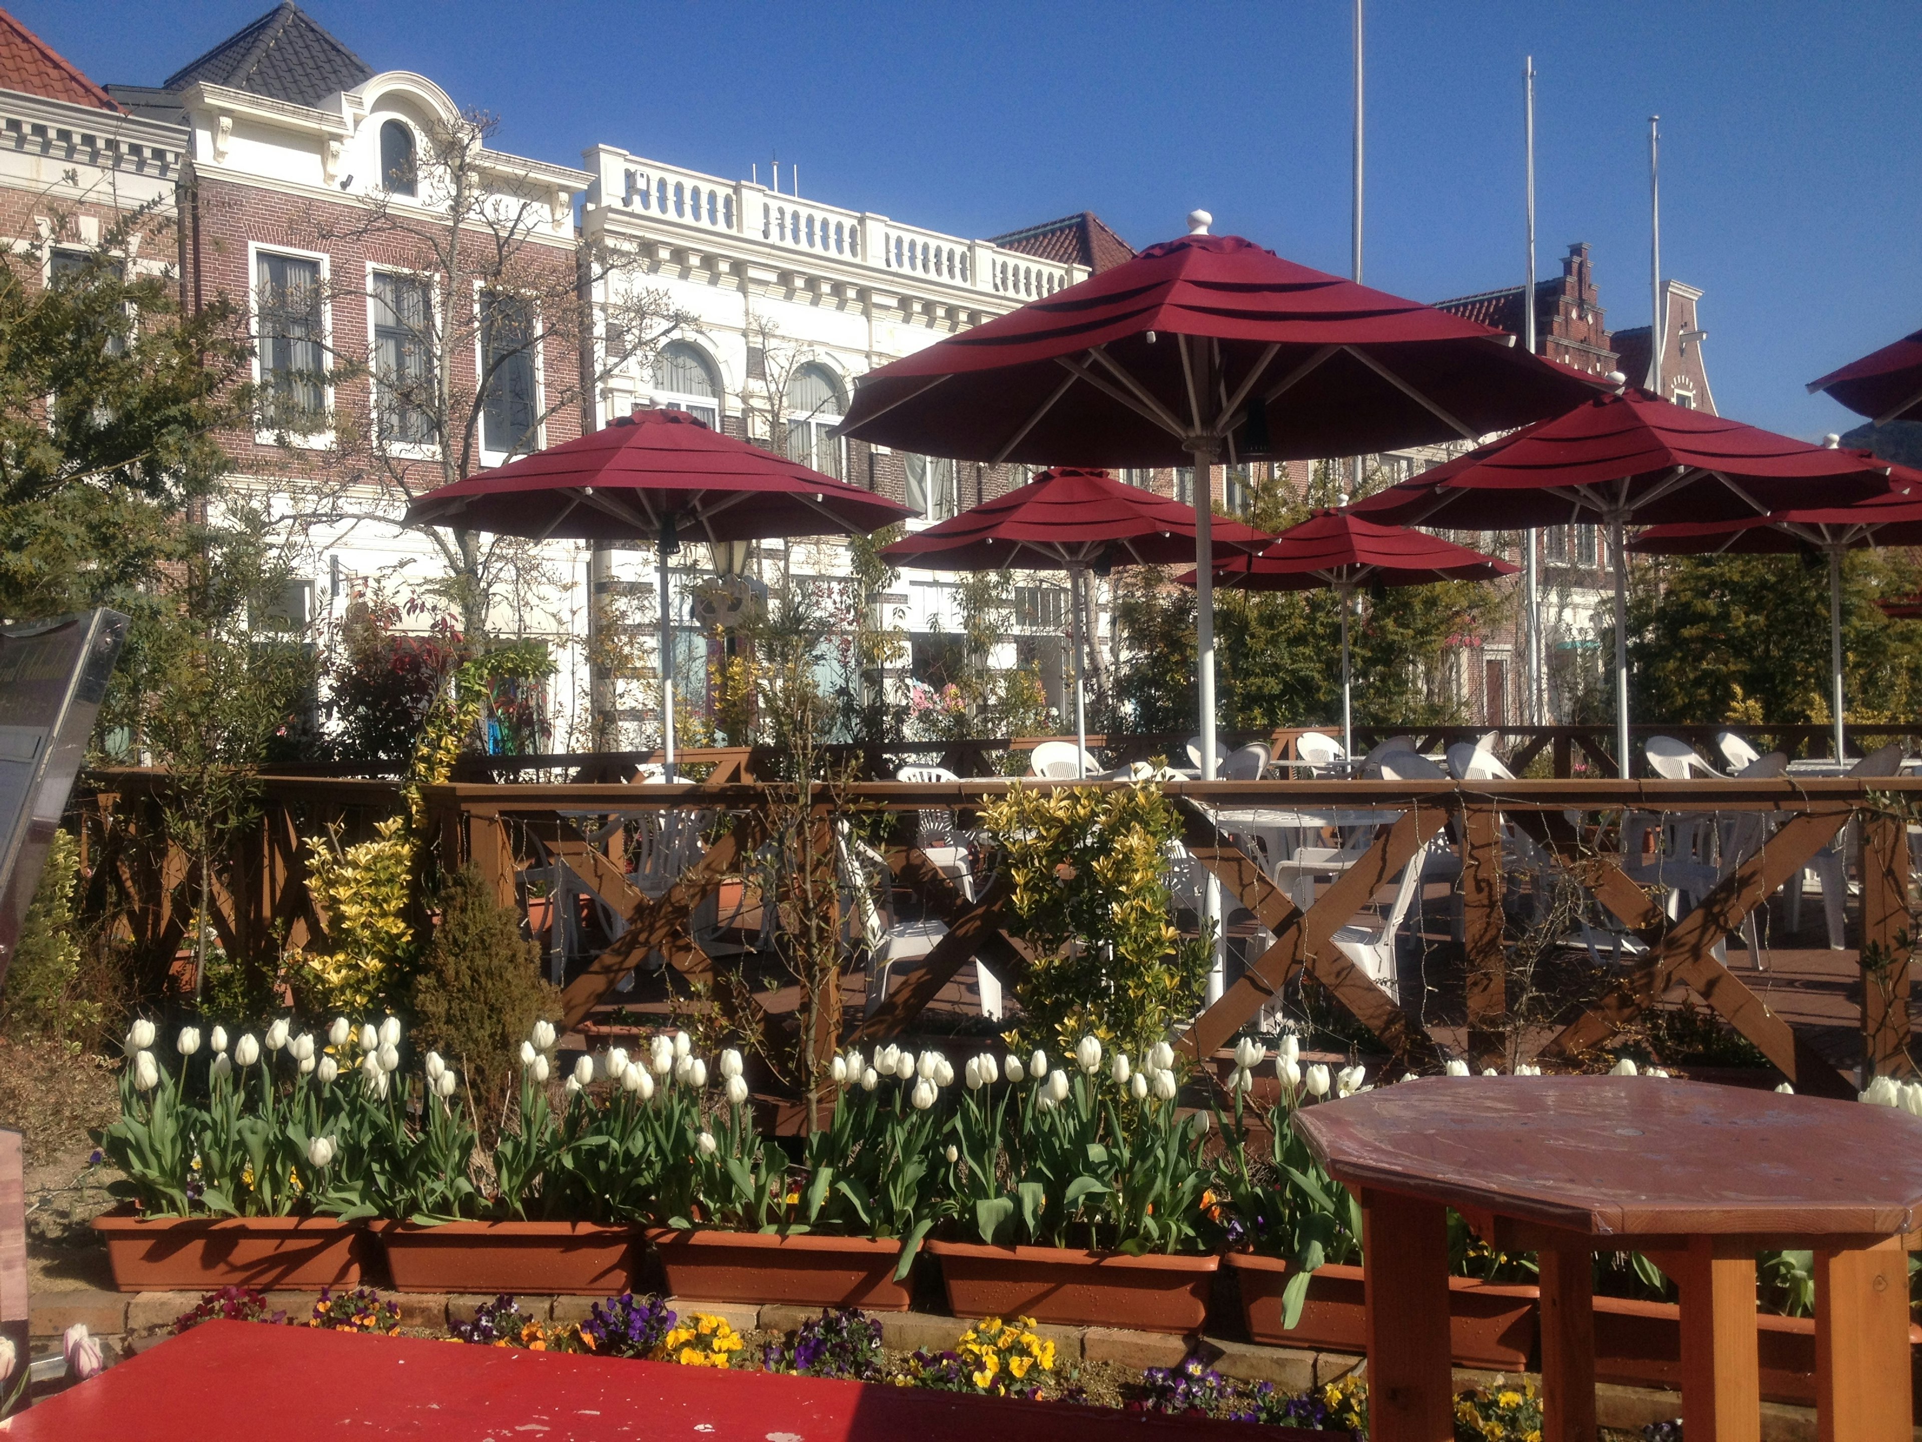
M413 981L413 1040L457 1065L475 1104L498 1117L521 1040L561 1015L561 998L540 977L540 948L521 940L519 917L494 900L479 867L450 875L440 906Z

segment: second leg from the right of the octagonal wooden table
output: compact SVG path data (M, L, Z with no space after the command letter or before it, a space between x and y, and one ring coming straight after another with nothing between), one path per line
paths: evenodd
M1691 1236L1688 1252L1664 1252L1651 1261L1682 1288L1682 1430L1688 1442L1761 1442L1753 1246L1743 1252L1736 1238Z

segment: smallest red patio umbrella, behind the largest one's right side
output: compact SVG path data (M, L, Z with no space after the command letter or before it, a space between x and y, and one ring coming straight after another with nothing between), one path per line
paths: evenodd
M1317 590L1334 586L1342 598L1342 748L1355 754L1347 613L1361 586L1426 586L1436 581L1491 581L1515 575L1509 561L1451 540L1376 525L1345 510L1318 510L1292 525L1274 544L1215 567L1215 583L1240 590ZM1182 577L1194 584L1194 571Z

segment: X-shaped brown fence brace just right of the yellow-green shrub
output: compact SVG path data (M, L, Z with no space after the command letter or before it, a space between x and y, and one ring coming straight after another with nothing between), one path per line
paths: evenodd
M1422 1025L1403 1009L1372 977L1336 950L1332 938L1368 904L1376 888L1401 875L1422 844L1447 823L1447 809L1415 808L1384 827L1374 846L1307 911L1297 907L1240 846L1220 834L1215 821L1194 802L1184 802L1188 854L1220 877L1222 886L1274 932L1274 946L1263 952L1242 979L1215 1006L1190 1023L1178 1046L1205 1061L1234 1036L1249 1017L1278 996L1297 967L1326 986L1361 1025L1380 1036L1403 1065L1442 1065L1442 1054Z

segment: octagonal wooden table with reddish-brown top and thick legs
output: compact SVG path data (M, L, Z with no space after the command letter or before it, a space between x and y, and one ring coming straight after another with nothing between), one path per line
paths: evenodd
M1689 1442L1755 1442L1755 1254L1812 1248L1822 1442L1909 1442L1922 1119L1657 1077L1430 1077L1305 1107L1363 1206L1374 1442L1449 1442L1447 1207L1541 1259L1543 1442L1593 1442L1591 1254L1682 1294Z

